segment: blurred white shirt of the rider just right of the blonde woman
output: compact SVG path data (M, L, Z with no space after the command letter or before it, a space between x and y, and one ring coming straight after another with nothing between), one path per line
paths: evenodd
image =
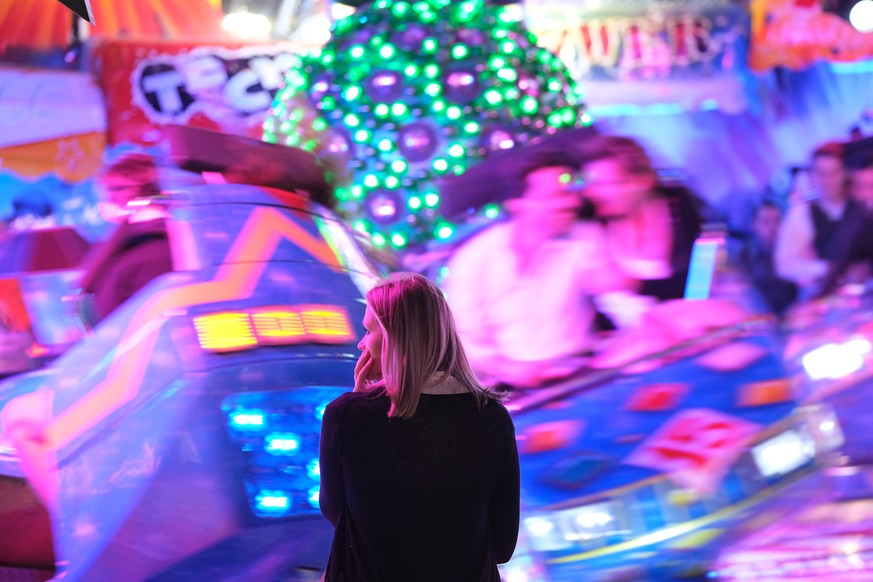
M614 268L599 226L579 224L543 243L523 270L511 250L513 228L490 227L449 261L446 296L474 367L494 356L534 362L590 349L591 283Z

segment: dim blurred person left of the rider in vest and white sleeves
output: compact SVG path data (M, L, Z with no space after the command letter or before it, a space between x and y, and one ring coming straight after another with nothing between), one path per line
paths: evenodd
M751 232L737 252L739 269L749 277L766 306L782 317L797 298L797 286L776 274L773 250L779 235L782 210L774 202L764 200L755 211Z

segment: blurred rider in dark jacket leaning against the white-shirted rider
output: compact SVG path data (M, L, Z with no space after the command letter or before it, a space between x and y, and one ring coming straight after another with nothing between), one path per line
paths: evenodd
M700 204L687 189L658 182L651 158L627 137L598 136L584 146L583 195L603 225L611 259L636 281L632 291L598 296L612 324L629 328L651 305L684 296Z

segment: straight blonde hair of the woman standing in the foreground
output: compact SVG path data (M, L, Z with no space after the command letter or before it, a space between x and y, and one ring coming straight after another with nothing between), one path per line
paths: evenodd
M483 406L501 396L479 383L442 291L417 273L395 273L367 293L382 327L382 377L388 416L415 414L422 389L451 376Z

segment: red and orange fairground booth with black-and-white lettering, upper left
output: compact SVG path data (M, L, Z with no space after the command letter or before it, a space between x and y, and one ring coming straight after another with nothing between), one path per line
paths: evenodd
M104 163L160 155L170 123L259 136L297 49L232 37L214 0L90 7L94 25L56 0L0 8L0 218L93 240L106 231L94 188ZM22 220L22 200L38 202L38 220Z

